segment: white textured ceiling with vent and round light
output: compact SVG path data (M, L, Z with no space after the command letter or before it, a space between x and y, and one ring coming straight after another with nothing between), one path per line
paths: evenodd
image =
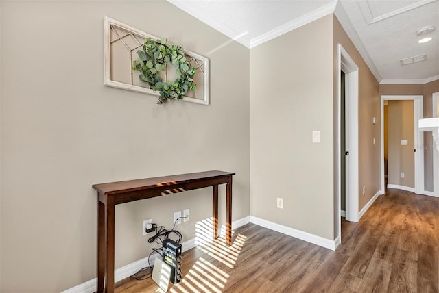
M248 48L334 13L381 84L439 79L439 0L167 1ZM433 40L418 44L431 26Z

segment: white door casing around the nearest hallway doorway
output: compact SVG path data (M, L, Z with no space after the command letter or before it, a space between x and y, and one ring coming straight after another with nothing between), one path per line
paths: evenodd
M347 140L346 146L348 146L349 157L346 160L346 220L351 222L358 222L359 220L359 208L358 208L358 184L359 184L359 153L358 153L358 66L354 60L343 48L342 44L337 44L337 176L336 181L338 207L335 216L338 220L338 231L341 243L341 231L342 231L342 218L341 218L341 158L342 153L340 144L341 133L341 71L344 71L345 76L345 100L346 100L346 124L349 125L346 133Z

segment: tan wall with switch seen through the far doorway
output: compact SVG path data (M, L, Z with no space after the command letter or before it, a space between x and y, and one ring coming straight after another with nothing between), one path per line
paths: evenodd
M401 140L408 145L401 145ZM388 101L389 184L414 188L414 148L413 101Z

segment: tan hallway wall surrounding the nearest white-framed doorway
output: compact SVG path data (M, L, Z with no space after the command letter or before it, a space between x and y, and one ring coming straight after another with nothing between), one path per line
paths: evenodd
M337 62L336 52L337 44L342 44L359 68L359 97L358 97L358 119L359 119L359 211L379 192L379 166L380 166L380 98L379 84L377 79L372 75L366 62L355 48L353 42L348 38L342 25L334 16L334 62ZM337 66L334 65L334 88L337 86ZM336 92L334 92L334 101L336 101ZM335 107L334 107L335 108ZM334 115L336 118L337 115ZM373 117L377 118L377 123L372 123ZM336 127L334 127L336 128ZM375 145L373 139L375 138ZM337 138L338 139L338 138ZM336 157L337 154L334 155ZM365 186L365 194L363 194ZM336 192L334 195L336 196ZM335 205L335 208L337 205Z

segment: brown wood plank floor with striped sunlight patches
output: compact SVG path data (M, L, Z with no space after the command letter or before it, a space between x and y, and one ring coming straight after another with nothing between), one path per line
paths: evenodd
M248 224L234 244L184 253L169 292L438 292L439 199L388 189L358 223L342 222L337 251ZM161 292L125 279L116 292Z

